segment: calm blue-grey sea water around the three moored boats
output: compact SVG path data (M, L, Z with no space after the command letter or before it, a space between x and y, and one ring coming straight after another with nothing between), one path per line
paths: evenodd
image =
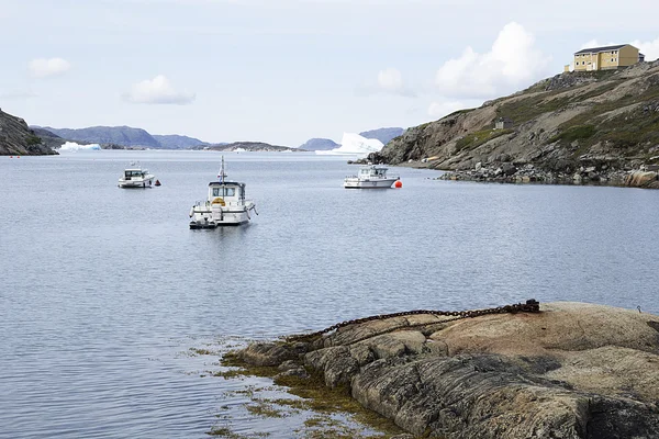
M202 376L216 357L189 352L234 338L529 297L659 313L659 191L406 168L401 190L345 190L345 157L225 154L260 215L190 230L220 157L0 157L0 437L206 437L244 384ZM116 188L131 160L163 187Z

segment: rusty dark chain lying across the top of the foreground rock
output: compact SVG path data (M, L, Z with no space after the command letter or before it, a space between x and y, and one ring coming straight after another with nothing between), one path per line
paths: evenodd
M338 328L343 328L345 326L349 326L349 325L358 325L361 323L366 323L366 322L372 322L372 320L384 320L387 318L392 318L392 317L403 317L403 316L409 316L409 315L418 315L418 314L431 314L431 315L435 315L435 316L448 316L448 317L454 317L450 318L448 320L443 320L443 322L453 322L453 320L457 320L460 318L472 318L472 317L478 317L478 316L482 316L482 315L488 315L488 314L515 314L515 313L539 313L540 312L540 303L538 301L536 301L535 299L529 299L526 301L526 303L516 303L513 305L504 305L504 306L498 306L494 308L485 308L485 309L469 309L469 311L434 311L434 309L414 309L414 311L403 311L400 313L392 313L392 314L379 314L379 315L375 315L375 316L370 316L370 317L361 317L361 318L354 318L351 320L345 320L345 322L340 322L337 323L336 325L332 325L325 329L321 329L321 330L316 330L315 333L310 333L310 334L300 334L300 335L292 335L287 337L288 340L294 341L294 340L302 340L302 339L309 339L309 338L314 338L317 336L322 336L323 334L326 333L331 333L333 330L336 330Z

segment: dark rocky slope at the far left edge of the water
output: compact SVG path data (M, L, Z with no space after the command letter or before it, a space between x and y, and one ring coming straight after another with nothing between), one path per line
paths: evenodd
M0 155L42 156L55 153L25 121L0 110Z

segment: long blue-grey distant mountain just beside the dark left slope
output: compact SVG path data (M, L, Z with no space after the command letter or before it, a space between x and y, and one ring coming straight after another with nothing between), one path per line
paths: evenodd
M92 144L114 144L121 146L142 146L159 148L160 144L150 134L142 128L130 126L91 126L88 128L52 128L44 130L74 142Z

